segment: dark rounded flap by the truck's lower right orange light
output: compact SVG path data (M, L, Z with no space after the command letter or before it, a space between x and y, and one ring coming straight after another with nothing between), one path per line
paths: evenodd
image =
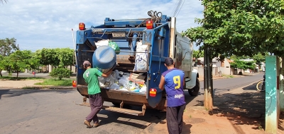
M155 108L156 106L158 106L158 104L160 103L160 100L162 99L163 97L163 91L160 90L159 87L155 87L155 89L157 90L156 91L156 94L155 94L155 97L151 97L149 94L150 92L148 92L148 104L152 107L152 108Z

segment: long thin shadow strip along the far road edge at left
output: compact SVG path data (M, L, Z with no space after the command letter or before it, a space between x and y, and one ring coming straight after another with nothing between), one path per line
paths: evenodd
M16 97L20 95L31 94L35 92L58 92L61 94L65 94L74 90L18 90L18 89L11 89L11 88L4 88L1 87L0 89L0 99L2 97Z

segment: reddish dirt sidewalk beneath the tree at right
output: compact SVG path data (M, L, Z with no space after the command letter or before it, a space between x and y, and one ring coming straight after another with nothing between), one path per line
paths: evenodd
M214 109L203 104L188 106L183 115L182 134L261 134L265 126L266 92L256 91L256 83L214 97ZM284 133L280 115L278 133ZM146 133L168 133L166 119L146 129Z

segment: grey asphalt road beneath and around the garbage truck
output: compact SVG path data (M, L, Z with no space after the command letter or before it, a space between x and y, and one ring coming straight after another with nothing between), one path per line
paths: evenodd
M256 83L262 75L214 80L215 94ZM203 83L200 84L198 97L190 97L185 91L187 106L203 100ZM165 112L153 109L146 109L145 116L102 110L99 112L102 126L88 129L83 121L90 108L76 104L81 102L82 97L76 90L9 90L0 87L0 133L145 133L145 128L155 126L165 118Z

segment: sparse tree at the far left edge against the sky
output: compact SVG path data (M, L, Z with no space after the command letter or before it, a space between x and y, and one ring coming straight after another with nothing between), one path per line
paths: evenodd
M0 39L0 56L3 56L2 59L7 59L6 56L9 56L13 51L18 50L18 45L16 44L15 38L6 38ZM8 69L6 63L1 63L0 65L0 76L2 77L2 71Z

